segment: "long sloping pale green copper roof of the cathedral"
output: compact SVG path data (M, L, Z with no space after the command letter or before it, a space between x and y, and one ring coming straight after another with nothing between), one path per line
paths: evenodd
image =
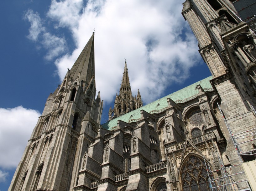
M124 121L126 123L136 121L140 118L141 110L144 110L150 114L160 113L161 111L165 110L165 108L168 106L168 103L166 100L167 98L174 100L175 103L183 103L188 100L191 100L191 99L195 98L196 95L199 93L198 89L196 89L196 86L199 84L205 91L213 91L212 85L210 83L211 79L212 79L212 76L209 76L201 81L191 84L190 86L187 86L187 87L185 87L179 91L176 91L170 95L166 95L165 97L162 97L159 100L155 100L148 105L144 105L144 106L138 108L137 110L130 111L129 113L126 113L124 115L121 115L120 117L112 119L112 120L108 121L107 123L102 124L102 127L104 129L112 130L113 127L117 126L118 120Z

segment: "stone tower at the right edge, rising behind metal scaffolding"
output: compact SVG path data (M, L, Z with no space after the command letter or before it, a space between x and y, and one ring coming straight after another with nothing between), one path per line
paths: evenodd
M232 2L234 1L186 0L182 10L182 15L198 40L199 52L212 73L211 84L218 92L220 100L217 102L226 119L252 110L256 90L255 34L239 19ZM223 120L218 120L224 124ZM254 125L255 116L248 113L243 120L231 122L230 129L236 135L253 129ZM222 129L227 140L225 153L230 164L236 165L240 160L225 129ZM242 152L255 149L253 144L239 146ZM248 155L241 155L243 162L254 159L253 155ZM228 173L237 173L239 170L240 167L233 168ZM238 181L241 177L246 179L244 174L234 176L233 179ZM245 183L239 183L238 186L241 189Z

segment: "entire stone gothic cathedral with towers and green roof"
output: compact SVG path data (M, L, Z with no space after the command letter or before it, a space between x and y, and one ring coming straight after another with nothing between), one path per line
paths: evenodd
M47 98L9 191L255 190L256 37L232 2L183 3L212 76L143 105L125 62L104 124L93 33Z

